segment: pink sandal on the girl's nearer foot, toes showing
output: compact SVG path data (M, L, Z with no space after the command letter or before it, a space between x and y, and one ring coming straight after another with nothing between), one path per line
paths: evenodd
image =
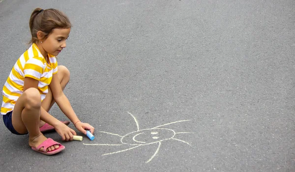
M59 144L59 148L58 149L54 149L52 151L46 151L46 149L50 146L53 146L55 144ZM43 151L40 151L39 149L43 147ZM58 142L55 142L54 140L52 140L51 138L46 139L46 141L44 141L43 143L41 143L40 145L38 145L36 148L35 147L31 147L34 151L43 153L45 155L53 155L56 153L59 153L61 150L63 150L65 147L63 145L61 145Z

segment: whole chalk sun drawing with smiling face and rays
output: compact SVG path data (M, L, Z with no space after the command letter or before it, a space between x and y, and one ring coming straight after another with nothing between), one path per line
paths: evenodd
M180 120L180 121L175 121L175 122L170 122L170 123L167 123L167 124L159 125L159 126L156 126L156 127L153 127L153 128L140 130L136 118L132 114L130 114L129 112L128 112L128 114L133 117L133 119L134 119L134 121L136 123L136 126L137 126L136 131L128 133L128 134L126 134L124 136L120 136L118 134L104 132L104 131L98 131L99 133L106 133L106 134L115 135L115 136L120 137L120 141L121 141L122 144L92 144L92 143L83 143L83 144L84 145L102 145L102 146L120 146L120 145L128 144L128 145L133 146L133 147L128 148L128 149L102 154L104 156L104 155L111 155L111 154L115 154L115 153L124 152L124 151L131 150L131 149L134 149L134 148L139 147L139 146L158 143L158 148L156 149L155 153L148 159L148 161L146 161L146 163L149 163L156 156L156 154L158 153L158 151L160 149L161 142L163 142L163 141L175 140L175 141L179 141L179 142L186 143L186 144L190 145L189 143L187 143L185 141L182 141L182 140L179 140L179 139L176 139L174 137L177 134L191 133L191 132L175 132L172 129L159 128L159 127L162 127L162 126L165 126L165 125L170 125L170 124L173 124L173 123L190 121L190 120Z

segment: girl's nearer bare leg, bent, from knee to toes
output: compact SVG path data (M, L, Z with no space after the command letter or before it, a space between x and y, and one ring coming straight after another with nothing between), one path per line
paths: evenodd
M12 125L21 134L29 132L29 145L37 147L47 138L39 130L41 113L41 95L36 88L29 88L18 98L12 112ZM59 148L59 145L48 147L47 151ZM40 148L43 151L43 147Z

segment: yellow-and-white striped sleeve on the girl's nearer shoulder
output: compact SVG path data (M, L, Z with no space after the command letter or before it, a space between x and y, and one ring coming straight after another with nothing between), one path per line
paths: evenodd
M40 81L41 75L44 70L43 66L44 64L41 60L36 58L30 58L24 66L25 77L30 77Z

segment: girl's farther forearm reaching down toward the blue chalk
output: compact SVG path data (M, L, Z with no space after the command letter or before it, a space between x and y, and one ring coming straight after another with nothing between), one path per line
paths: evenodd
M54 100L56 101L62 113L66 115L74 124L77 121L80 121L77 115L75 114L69 100L64 94L62 94L58 98L55 98Z

